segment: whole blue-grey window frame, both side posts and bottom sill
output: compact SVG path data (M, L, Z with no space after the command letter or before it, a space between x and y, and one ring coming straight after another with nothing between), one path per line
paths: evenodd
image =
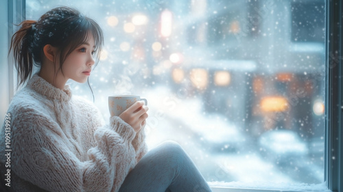
M21 23L26 17L26 1L13 0L8 1L8 45L16 26L12 23ZM327 0L327 25L326 25L326 82L325 88L325 165L324 165L324 180L327 187L333 192L343 192L343 57L342 57L342 13L343 3L341 0ZM9 49L9 47L8 47ZM8 52L8 49L5 50ZM337 54L335 54L337 51ZM6 64L3 62L3 64ZM14 95L14 67L12 59L8 59L8 92L9 102ZM5 99L5 98L1 98ZM223 187L212 187L214 192L230 191L230 192L273 192L274 190L258 190L258 189L231 189ZM276 190L280 191L280 190ZM276 192L275 191L275 192ZM283 191L294 192L294 191Z

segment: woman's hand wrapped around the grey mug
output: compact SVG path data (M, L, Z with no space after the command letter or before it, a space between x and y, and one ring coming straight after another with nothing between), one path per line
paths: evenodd
M147 118L147 110L149 108L144 105L143 101L137 101L134 102L131 107L126 109L126 111L123 111L119 115L119 118L121 118L124 122L127 124L130 124L134 131L136 133L143 128L146 124L146 118Z

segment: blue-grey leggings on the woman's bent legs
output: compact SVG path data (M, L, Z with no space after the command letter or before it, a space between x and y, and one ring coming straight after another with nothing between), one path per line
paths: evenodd
M208 192L206 180L181 146L165 141L143 156L119 192Z

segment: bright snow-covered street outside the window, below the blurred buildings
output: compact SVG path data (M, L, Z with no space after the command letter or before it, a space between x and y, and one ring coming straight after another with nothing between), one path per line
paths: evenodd
M145 92L143 97L150 107L146 126L149 148L166 140L177 141L208 181L320 183L323 179L320 167L308 159L283 167L268 161L256 143L249 141L249 135L220 114L204 113L198 99L182 100L163 87ZM220 139L225 140L216 149ZM235 149L226 151L227 145L235 145Z

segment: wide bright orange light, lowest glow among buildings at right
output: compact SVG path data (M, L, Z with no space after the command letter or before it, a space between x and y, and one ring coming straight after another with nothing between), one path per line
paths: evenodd
M281 96L269 96L262 98L261 109L265 112L285 111L288 108L287 99Z

